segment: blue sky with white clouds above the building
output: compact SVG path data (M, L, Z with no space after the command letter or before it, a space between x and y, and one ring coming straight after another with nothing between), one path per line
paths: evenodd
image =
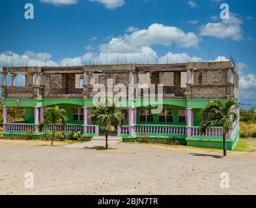
M24 18L32 3L34 19ZM220 19L227 3L230 18ZM0 67L229 59L240 98L256 103L256 2L222 0L1 0ZM222 56L222 57L220 57Z

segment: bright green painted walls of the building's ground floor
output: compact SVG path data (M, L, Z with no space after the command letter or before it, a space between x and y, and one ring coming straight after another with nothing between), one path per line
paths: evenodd
M159 115L153 114L153 122L140 122L139 120L139 112L141 108L149 108L145 106L143 101L137 100L126 100L124 101L125 105L119 106L122 109L135 107L137 109L137 124L142 125L178 125L186 127L186 123L180 123L178 121L178 109L193 109L193 126L199 126L201 122L201 118L197 116L200 109L206 106L209 99L164 99L162 103L164 103L163 107L167 109L173 109L173 122L172 123L160 123ZM225 101L225 99L223 99ZM158 104L157 101L148 100L146 103L150 103L150 105ZM25 116L27 123L34 123L34 107L49 107L54 105L59 105L59 107L64 107L66 109L66 114L68 116L68 123L80 124L83 125L83 121L74 121L73 120L73 108L74 107L93 107L92 99L3 99L3 105L8 107L25 107ZM92 124L97 124L92 122ZM6 132L6 134L11 134L12 132ZM23 134L23 133L20 133ZM139 134L135 135L120 135L123 140L134 139ZM91 135L93 136L93 135ZM222 148L222 138L218 137L197 137L186 135L167 135L167 134L148 134L148 136L152 136L155 138L177 138L182 142L182 144L187 144L188 146L199 146L206 148ZM239 129L234 138L229 138L227 140L227 148L233 149L235 148L237 142L239 140Z

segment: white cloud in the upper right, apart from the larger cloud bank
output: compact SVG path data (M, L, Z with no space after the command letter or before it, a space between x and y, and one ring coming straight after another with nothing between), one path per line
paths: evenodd
M232 40L242 40L242 20L236 14L231 13L229 19L224 19L218 23L206 23L200 28L201 36L214 36L215 38L231 38Z

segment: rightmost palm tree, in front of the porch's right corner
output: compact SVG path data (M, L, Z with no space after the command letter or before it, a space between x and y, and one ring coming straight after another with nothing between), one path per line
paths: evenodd
M206 132L209 127L220 125L223 128L223 155L227 156L226 152L226 134L229 133L237 120L238 115L235 112L235 107L238 107L238 99L228 99L225 103L220 100L212 100L201 109L199 116L205 118L200 123L199 131L201 134Z

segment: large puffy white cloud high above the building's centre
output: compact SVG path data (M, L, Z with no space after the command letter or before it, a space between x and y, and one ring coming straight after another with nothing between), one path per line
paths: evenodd
M134 31L131 34L112 38L108 44L102 44L100 51L109 53L137 53L141 47L151 45L171 45L175 43L178 47L197 47L199 38L193 32L185 33L177 27L169 27L154 23L148 29Z

